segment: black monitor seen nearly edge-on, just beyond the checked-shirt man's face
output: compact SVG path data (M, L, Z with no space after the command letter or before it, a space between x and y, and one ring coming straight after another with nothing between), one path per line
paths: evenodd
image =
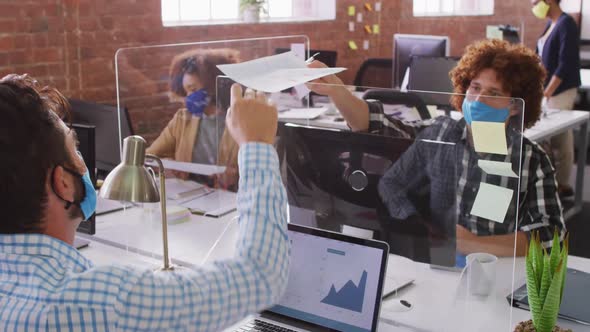
M78 136L78 151L82 154L82 159L84 159L84 163L86 164L86 168L90 173L90 179L92 183L96 186L96 142L95 142L95 127L92 125L85 125L85 124L72 124L72 129L76 132ZM77 231L86 233L86 234L94 234L96 233L96 215L93 214L90 219L87 221L83 221L78 226Z

